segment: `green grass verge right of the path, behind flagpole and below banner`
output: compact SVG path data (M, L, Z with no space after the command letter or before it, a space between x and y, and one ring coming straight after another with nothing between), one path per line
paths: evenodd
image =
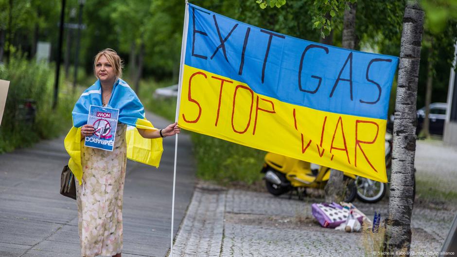
M176 98L154 99L154 90L173 85L173 81L141 81L139 97L146 109L175 120ZM262 178L260 170L265 152L215 137L190 132L197 161L197 177L220 185L242 182L252 185Z

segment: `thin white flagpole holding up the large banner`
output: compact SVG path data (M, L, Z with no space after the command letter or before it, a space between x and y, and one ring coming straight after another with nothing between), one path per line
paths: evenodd
M178 83L178 96L176 101L176 116L175 121L178 121L179 117L179 105L181 100L181 87L182 87L182 77L184 72L184 60L186 58L186 44L187 44L187 27L189 25L189 3L186 0L186 7L184 12L184 25L182 29L182 43L181 43L181 62L179 65L179 83ZM172 199L172 226L171 226L171 236L170 236L170 255L173 257L173 229L175 222L175 189L176 189L176 158L178 153L178 135L175 137L175 167L173 168L173 199Z

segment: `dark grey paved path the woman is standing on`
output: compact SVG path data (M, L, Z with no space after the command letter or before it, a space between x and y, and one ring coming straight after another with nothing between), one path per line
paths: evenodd
M169 122L152 114L163 128ZM175 234L194 190L188 135L178 139ZM164 138L160 168L129 161L124 189L123 257L164 257L170 249L174 137ZM80 256L76 203L59 194L68 162L63 137L0 154L0 257Z

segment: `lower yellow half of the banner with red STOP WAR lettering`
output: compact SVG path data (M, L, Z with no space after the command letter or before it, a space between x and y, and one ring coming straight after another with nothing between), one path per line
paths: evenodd
M386 120L319 111L184 66L181 128L387 182Z

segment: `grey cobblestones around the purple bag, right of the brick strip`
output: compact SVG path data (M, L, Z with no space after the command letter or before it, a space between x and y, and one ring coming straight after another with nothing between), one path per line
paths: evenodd
M362 233L346 233L320 227L311 214L311 204L311 201L289 200L287 197L279 198L267 193L229 190L221 256L299 257L326 256L329 253L331 256L365 255ZM355 205L369 217L374 215L375 210L381 212L382 217L387 216L387 201L375 205L356 202ZM245 222L235 218L227 219L228 213L235 216L255 214L257 223L252 221L251 225L243 230L240 226ZM259 215L264 215L264 218ZM280 222L269 222L269 225L265 225L265 221L271 220L271 215L281 215L282 219L279 219ZM414 208L411 251L440 251L454 215L452 211ZM243 219L249 218L245 216ZM302 221L297 222L299 219ZM290 224L285 226L284 221ZM246 229L250 232L243 234ZM255 251L245 246L246 242L257 245L262 244L262 241L264 245ZM367 253L366 256L371 254Z

